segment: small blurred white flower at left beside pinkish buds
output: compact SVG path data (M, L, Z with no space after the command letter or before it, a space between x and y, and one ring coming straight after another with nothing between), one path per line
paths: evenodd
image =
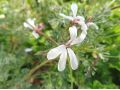
M35 26L35 19L29 18L29 19L27 19L26 22L23 23L23 25L24 25L24 27L33 30L32 34L36 39L39 38L39 34L35 31L35 27L36 27Z

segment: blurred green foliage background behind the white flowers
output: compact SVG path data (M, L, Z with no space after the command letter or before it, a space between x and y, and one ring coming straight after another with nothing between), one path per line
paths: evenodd
M111 1L0 0L0 88L120 88L120 0ZM73 2L78 15L92 16L99 30L90 28L85 41L72 47L79 68L72 71L67 63L59 72L59 58L44 64L56 45L43 36L35 39L23 23L36 18L37 24L45 24L46 35L65 43L70 22L59 13L71 15ZM26 48L33 51L26 53Z

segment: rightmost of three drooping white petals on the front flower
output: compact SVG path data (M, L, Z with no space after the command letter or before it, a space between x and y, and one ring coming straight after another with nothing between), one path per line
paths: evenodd
M73 70L78 68L78 60L77 57L75 55L75 53L73 52L73 50L71 48L67 48L68 50L68 55L70 57L70 64Z

